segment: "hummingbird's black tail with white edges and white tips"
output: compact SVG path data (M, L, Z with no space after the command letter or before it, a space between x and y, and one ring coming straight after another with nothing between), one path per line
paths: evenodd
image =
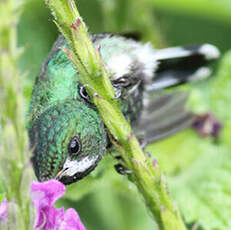
M155 52L158 68L153 83L147 89L163 89L208 77L209 64L220 56L219 50L210 44L182 46Z

